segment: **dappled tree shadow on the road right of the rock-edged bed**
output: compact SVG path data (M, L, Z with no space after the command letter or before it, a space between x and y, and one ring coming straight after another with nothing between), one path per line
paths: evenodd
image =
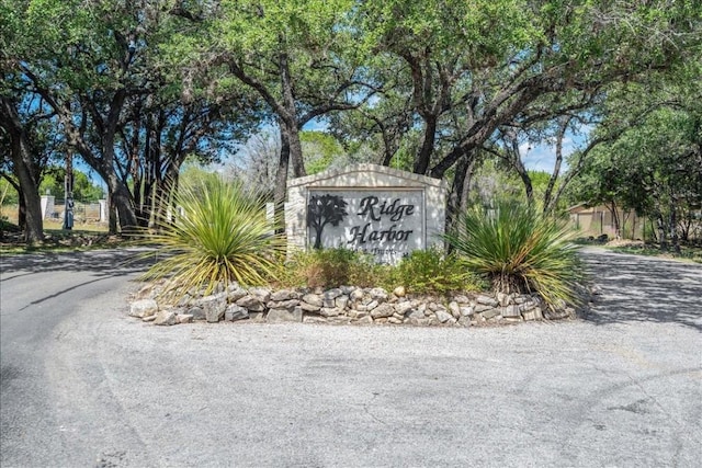
M599 289L585 320L668 322L702 331L702 265L600 249L580 253Z

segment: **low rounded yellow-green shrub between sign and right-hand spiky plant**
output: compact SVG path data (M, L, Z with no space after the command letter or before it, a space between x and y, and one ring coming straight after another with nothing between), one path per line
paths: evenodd
M478 290L484 282L467 270L457 255L444 255L438 249L415 250L392 270L392 279L409 293L445 294Z

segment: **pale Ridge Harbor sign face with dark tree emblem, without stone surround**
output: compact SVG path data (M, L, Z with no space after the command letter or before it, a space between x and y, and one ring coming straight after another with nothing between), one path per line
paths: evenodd
M426 248L424 212L421 190L310 189L307 239L315 249L341 247L397 263Z

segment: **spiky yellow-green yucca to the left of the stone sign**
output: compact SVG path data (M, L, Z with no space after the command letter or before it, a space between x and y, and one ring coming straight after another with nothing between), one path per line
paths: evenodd
M144 279L166 278L166 297L195 289L210 294L222 283L260 285L274 278L282 238L265 217L263 199L238 183L213 175L181 187L179 214L147 236L158 260Z

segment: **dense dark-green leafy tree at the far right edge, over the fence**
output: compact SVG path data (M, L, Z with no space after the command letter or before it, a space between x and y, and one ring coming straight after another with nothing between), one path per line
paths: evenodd
M702 207L702 88L683 79L699 76L699 64L676 70L672 81L630 85L613 95L612 118L632 107L648 111L619 139L592 151L571 190L575 199L603 203L614 216L621 206L649 217L664 249L672 242L679 250Z

